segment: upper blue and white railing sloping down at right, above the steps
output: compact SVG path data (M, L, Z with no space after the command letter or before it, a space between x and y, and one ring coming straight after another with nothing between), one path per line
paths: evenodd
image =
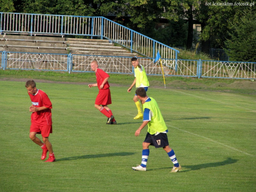
M4 13L1 14L0 33L30 35L81 35L106 38L145 57L177 59L178 50L150 37L124 27L105 17Z

